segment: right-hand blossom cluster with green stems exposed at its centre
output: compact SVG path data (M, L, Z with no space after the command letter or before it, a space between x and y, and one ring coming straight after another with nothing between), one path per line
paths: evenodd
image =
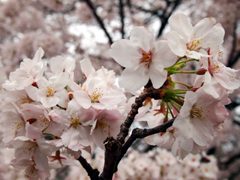
M136 93L149 82L159 89L161 99L147 99L136 119L150 128L175 119L167 132L147 142L185 156L213 142L228 116L228 94L240 87L240 71L221 63L224 29L215 19L193 26L189 17L177 13L169 24L166 40L154 42L151 33L136 27L129 40L112 45L110 55L125 67L119 83L127 91ZM187 70L188 63L198 69ZM177 81L179 74L192 74L194 83Z

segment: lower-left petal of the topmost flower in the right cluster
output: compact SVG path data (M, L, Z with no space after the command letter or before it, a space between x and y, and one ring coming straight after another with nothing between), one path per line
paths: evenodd
M176 54L177 56L184 56L187 51L187 41L183 40L177 32L171 31L166 34L168 46L171 51Z

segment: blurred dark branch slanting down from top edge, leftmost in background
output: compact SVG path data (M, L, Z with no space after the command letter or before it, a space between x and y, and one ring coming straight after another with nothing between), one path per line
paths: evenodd
M93 16L95 17L96 21L98 22L99 26L102 28L102 30L104 31L105 35L108 38L108 42L111 45L113 43L112 37L110 36L110 34L108 33L102 18L97 14L96 8L93 4L93 2L91 0L84 0L86 2L86 4L88 5L89 9L92 11Z

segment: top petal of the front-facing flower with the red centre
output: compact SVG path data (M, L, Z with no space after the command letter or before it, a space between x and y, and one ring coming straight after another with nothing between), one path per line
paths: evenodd
M154 37L144 27L134 27L130 34L130 41L136 43L143 50L149 51L152 49Z

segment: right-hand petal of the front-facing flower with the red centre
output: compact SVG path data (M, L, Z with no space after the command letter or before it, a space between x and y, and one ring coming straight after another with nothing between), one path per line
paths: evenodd
M167 41L155 43L152 63L159 63L162 67L169 67L177 61L177 56L171 51Z

